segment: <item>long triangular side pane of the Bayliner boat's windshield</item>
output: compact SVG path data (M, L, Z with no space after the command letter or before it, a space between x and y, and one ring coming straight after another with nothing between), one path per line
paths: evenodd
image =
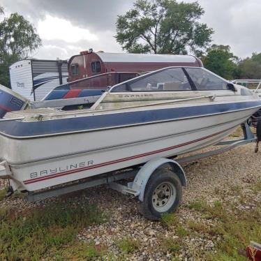
M122 91L191 91L191 84L182 68L167 68L112 88L112 92Z

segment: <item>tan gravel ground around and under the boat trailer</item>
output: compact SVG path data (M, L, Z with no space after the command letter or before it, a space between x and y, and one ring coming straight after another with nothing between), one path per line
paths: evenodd
M195 211L188 208L189 202L202 199L209 204L215 201L232 203L239 210L251 211L260 204L260 192L254 193L251 186L261 180L261 151L254 153L255 144L237 147L224 154L204 158L194 163L184 164L188 179L188 188L184 189L184 199L176 216L181 225L193 220L198 223L214 225L210 220L200 219ZM1 185L1 180L0 180ZM245 200L241 200L240 190ZM80 240L94 241L96 246L106 246L115 258L126 260L171 260L172 255L163 249L165 239L179 239L177 231L167 228L161 222L151 222L140 216L138 202L112 191L105 186L91 188L86 193L89 202L95 202L107 213L108 221L102 225L86 228L78 234ZM75 197L77 200L77 197ZM49 200L29 204L20 198L2 200L0 207L15 207L17 210L33 208L38 204L47 204ZM229 210L229 209L228 209ZM115 242L131 238L137 242L137 249L125 255ZM175 253L177 260L200 260L197 250L214 251L214 241L218 237L188 234L182 237L182 248Z

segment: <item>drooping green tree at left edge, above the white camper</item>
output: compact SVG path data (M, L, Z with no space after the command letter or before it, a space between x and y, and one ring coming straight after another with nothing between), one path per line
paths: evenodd
M3 7L0 6L0 14ZM36 29L22 15L13 13L0 22L0 84L10 87L9 66L25 59L41 45Z

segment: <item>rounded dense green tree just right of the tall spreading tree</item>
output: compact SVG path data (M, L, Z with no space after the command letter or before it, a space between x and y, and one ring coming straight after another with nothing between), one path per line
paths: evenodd
M205 68L225 79L231 80L237 76L238 58L230 52L229 45L211 45L207 50L207 54L202 56L201 60Z

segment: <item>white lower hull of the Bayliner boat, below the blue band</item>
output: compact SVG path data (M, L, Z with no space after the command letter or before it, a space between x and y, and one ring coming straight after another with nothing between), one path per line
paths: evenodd
M15 188L36 191L216 144L255 111L25 140L2 136L2 158Z

